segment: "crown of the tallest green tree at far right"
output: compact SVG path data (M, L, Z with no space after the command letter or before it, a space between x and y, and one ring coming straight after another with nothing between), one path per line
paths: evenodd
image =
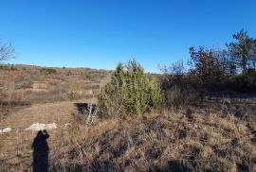
M244 29L233 34L233 39L237 42L227 44L230 55L232 56L235 64L242 69L242 73L246 75L252 40Z

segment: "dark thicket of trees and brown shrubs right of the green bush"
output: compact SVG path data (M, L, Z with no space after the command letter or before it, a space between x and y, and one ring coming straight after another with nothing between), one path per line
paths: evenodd
M191 46L188 68L182 61L161 68L168 108L202 103L210 94L256 93L256 39L244 29L232 38L226 48Z

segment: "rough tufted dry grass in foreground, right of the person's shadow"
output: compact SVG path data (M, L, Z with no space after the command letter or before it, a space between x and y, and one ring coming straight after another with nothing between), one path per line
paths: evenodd
M165 112L131 121L54 157L52 170L256 170L256 146L233 116ZM57 171L58 171L57 170Z

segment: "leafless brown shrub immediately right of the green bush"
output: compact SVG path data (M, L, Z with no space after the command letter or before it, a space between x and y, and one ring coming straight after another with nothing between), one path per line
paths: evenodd
M200 99L198 80L186 74L182 61L176 61L170 67L160 67L163 75L159 77L167 108L181 108L195 104Z

